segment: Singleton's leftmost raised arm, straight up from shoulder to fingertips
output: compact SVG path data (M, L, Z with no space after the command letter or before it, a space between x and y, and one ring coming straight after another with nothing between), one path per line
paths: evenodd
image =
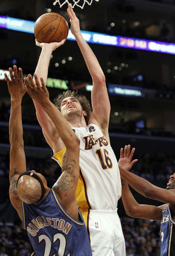
M9 120L9 141L10 141L10 173L9 173L9 196L12 205L22 219L22 204L16 193L16 181L19 174L26 171L26 161L23 141L22 128L22 97L26 90L22 80L22 69L17 71L14 65L14 73L12 68L9 68L11 80L5 73L5 79L8 85L8 91L11 95L11 114Z

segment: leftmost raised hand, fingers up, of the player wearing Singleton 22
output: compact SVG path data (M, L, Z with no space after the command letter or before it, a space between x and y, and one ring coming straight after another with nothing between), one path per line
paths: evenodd
M23 82L22 68L17 69L16 65L14 65L14 71L12 68L9 68L8 70L10 72L11 79L9 79L7 73L4 73L5 80L8 85L8 92L10 93L11 98L16 100L22 99L26 93Z

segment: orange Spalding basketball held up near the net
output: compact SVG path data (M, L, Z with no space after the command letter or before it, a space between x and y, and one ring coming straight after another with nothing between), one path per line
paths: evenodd
M34 35L39 43L60 42L68 36L68 23L60 14L45 13L36 20Z

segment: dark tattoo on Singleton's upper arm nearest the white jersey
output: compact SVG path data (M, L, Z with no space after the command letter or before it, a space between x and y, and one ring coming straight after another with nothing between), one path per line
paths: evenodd
M74 171L75 160L71 159L70 155L67 152L65 152L62 162L62 174L55 185L58 194L64 192L64 196L66 196L67 191L73 188L72 178L75 178Z

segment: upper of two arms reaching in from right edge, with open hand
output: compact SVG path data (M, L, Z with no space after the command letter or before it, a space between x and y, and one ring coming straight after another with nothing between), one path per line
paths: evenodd
M131 163L134 163L137 160L131 159L134 152L130 154L130 145L126 145L123 151L123 148L120 149L120 160L119 160L119 169L122 177L129 183L129 185L134 188L139 194L142 194L144 197L148 197L153 200L158 200L162 203L175 204L175 189L164 189L159 188L148 180L145 180L134 173L129 172L131 169ZM133 149L132 149L133 150ZM123 161L127 159L126 161ZM130 163L131 162L131 163ZM123 164L124 163L124 164Z

